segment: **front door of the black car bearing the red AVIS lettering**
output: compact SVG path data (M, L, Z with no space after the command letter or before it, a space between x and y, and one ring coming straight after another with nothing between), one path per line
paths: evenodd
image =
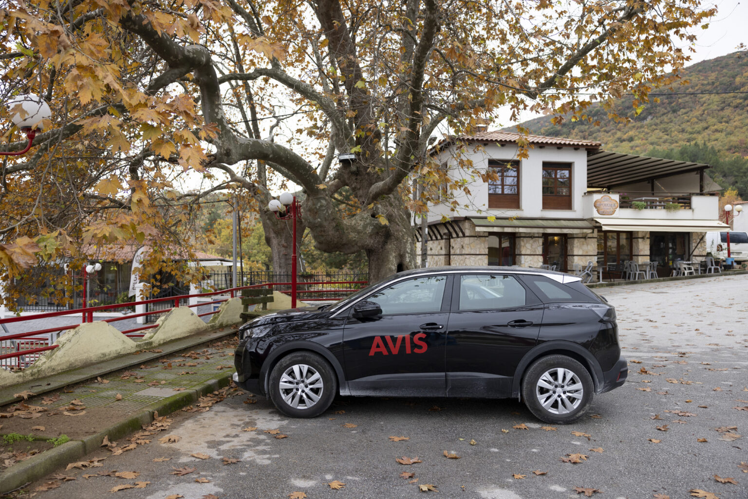
M444 397L444 343L450 275L393 282L364 301L381 314L356 318L343 329L346 380L352 395Z

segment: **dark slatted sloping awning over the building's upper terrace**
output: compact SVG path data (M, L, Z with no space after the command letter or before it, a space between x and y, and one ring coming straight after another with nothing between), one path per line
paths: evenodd
M703 163L650 158L601 150L587 156L587 187L612 188L711 168Z

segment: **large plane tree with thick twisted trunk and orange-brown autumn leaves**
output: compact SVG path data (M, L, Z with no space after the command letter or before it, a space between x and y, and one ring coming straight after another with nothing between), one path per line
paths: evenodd
M280 174L317 248L365 251L370 279L412 268L411 215L435 191L411 180L447 180L432 136L502 109L587 119L623 94L639 108L678 84L678 47L713 14L698 0L8 0L0 93L43 94L53 119L4 162L0 264L185 225L174 181L194 170L206 192L254 197L271 238L287 232L264 209ZM283 112L295 124L274 133L263 118Z

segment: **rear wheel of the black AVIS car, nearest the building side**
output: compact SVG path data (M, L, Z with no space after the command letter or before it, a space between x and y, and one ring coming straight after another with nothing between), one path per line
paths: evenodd
M527 368L522 381L525 405L546 423L576 421L589 409L594 391L586 367L566 355L539 358Z

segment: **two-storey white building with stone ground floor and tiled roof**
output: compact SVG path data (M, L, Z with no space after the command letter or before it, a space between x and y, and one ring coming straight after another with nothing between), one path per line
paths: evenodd
M527 158L519 159L520 138L479 132L432 149L469 194L453 191L456 207L429 204L429 266L545 263L566 271L592 261L615 271L626 260L656 260L669 275L676 258L705 257L705 232L726 227L709 165L539 135L527 137ZM489 168L497 180L475 174Z

